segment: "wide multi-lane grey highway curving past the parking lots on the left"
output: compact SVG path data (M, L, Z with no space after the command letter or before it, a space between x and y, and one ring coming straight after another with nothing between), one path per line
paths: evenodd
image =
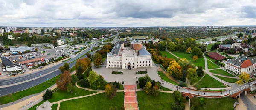
M114 36L117 36L118 34L114 35ZM114 36L111 36L110 38L114 37ZM104 39L107 40L108 38ZM101 42L99 42L101 43ZM81 54L77 55L76 57L70 59L67 61L67 63L69 62L72 62L78 58L80 58L82 55L86 54L89 50L91 50L93 47L96 47L98 46L99 43L94 43L90 48L88 48L87 50L84 50ZM94 52L91 52L90 54L93 54L95 53L96 51ZM87 55L85 55L84 57L82 58L85 58L87 57ZM65 62L64 62L65 63ZM18 92L18 91L22 91L22 90L25 90L27 88L31 88L35 85L38 85L38 84L41 84L42 82L45 82L47 81L47 78L48 80L50 80L51 78L61 74L61 71L58 69L60 66L63 66L64 63L61 63L61 64L58 64L58 65L52 65L52 67L49 67L47 69L42 69L41 71L38 71L38 72L35 72L35 73L32 73L32 74L28 74L26 75L25 77L23 76L20 76L20 77L15 77L15 78L8 78L6 80L0 80L0 87L3 86L3 85L10 85L10 84L15 84L15 83L18 83L18 82L24 82L26 80L30 80L32 78L36 78L35 80L32 80L32 81L29 81L29 82L24 82L24 83L21 83L21 84L18 84L18 85L13 85L13 86L9 86L9 87L4 87L4 88L0 88L0 94L1 96L3 95L6 95L6 94L10 94L10 93L15 93L15 92ZM70 68L75 66L76 64L76 61L72 62L69 64ZM51 64L50 64L51 65ZM55 71L56 69L58 69L57 71ZM52 72L52 71L55 71L55 72ZM52 72L51 74L47 74L49 72ZM41 75L44 75L44 74L47 74L45 76L42 76L40 77L40 74Z

